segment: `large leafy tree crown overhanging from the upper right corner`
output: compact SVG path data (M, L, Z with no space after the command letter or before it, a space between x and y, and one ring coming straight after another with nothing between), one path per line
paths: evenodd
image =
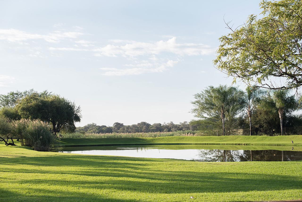
M302 1L262 1L263 18L247 22L220 37L214 64L251 86L291 89L302 85ZM280 84L273 80L280 78ZM284 80L281 80L284 79ZM279 83L279 82L278 82Z

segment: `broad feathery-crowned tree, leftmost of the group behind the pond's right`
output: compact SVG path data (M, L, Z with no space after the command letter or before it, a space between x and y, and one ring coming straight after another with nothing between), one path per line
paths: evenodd
M220 120L223 135L225 135L226 115L232 122L231 118L237 116L243 109L243 100L239 96L239 90L232 86L209 86L203 92L195 94L194 98L195 101L191 102L194 106L191 112L195 114L195 117L207 119L213 123Z

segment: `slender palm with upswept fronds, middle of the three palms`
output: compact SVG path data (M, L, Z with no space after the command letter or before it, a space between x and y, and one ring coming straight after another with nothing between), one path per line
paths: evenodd
M247 86L246 87L246 93L243 95L244 100L244 108L246 109L246 113L249 117L249 135L252 135L252 111L259 103L261 96L265 91L260 90L259 88L253 86Z

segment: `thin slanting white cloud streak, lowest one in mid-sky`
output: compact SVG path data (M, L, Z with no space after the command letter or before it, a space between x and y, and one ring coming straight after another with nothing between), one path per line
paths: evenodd
M101 70L105 70L103 75L105 76L125 76L125 75L139 75L143 73L155 73L155 72L163 72L167 69L167 67L173 67L175 64L177 64L178 61L169 60L166 63L159 64L156 66L153 65L150 67L141 67L139 65L135 66L134 68L128 68L128 69L117 69L117 68L100 68ZM143 66L145 66L143 64Z

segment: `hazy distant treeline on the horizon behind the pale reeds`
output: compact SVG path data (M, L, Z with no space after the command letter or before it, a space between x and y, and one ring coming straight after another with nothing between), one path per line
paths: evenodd
M83 127L77 127L76 132L80 133L136 133L136 132L174 132L195 130L196 125L190 125L188 122L180 122L175 124L169 123L154 123L140 122L132 125L124 125L123 123L115 122L113 126L96 125L95 123L87 124Z

